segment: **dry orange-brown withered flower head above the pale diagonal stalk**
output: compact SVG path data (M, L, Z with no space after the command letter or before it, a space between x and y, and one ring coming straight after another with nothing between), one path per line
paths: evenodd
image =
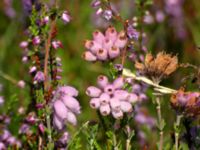
M177 69L178 58L165 52L158 53L154 58L152 54L148 53L144 64L136 62L135 67L154 82L159 83L162 78L167 77Z

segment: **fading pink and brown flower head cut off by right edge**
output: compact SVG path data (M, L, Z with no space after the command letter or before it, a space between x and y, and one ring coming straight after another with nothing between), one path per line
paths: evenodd
M171 96L171 105L179 113L185 116L196 117L200 114L200 93L185 92L180 89L177 93Z

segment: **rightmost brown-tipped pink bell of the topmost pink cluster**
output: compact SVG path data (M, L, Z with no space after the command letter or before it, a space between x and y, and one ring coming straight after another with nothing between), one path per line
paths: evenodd
M117 39L116 39L114 45L115 45L116 47L119 47L119 48L124 48L125 45L126 45L126 43L127 43L126 34L125 34L124 31L121 31L121 32L118 34Z

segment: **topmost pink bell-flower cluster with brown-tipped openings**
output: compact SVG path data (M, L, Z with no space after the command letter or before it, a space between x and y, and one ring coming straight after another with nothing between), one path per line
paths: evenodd
M93 32L93 39L86 40L86 52L83 58L87 61L106 61L120 56L121 50L127 44L127 37L124 31L117 32L114 27L109 27L105 34L96 30Z

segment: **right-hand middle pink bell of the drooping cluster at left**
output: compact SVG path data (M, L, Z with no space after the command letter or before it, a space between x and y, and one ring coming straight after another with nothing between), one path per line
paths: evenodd
M65 95L62 99L65 106L70 109L72 112L79 114L80 113L80 104L77 99L74 97Z

